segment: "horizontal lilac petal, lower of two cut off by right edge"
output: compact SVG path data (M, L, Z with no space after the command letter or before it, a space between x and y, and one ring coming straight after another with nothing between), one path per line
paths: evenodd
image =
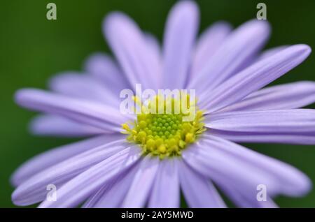
M242 142L315 144L315 110L223 112L207 116L205 123L223 137L240 135Z

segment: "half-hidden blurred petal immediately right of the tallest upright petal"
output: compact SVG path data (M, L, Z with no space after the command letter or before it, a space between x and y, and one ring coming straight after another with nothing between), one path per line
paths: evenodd
M191 75L199 74L207 66L209 59L215 54L231 31L230 24L216 22L206 29L197 40Z

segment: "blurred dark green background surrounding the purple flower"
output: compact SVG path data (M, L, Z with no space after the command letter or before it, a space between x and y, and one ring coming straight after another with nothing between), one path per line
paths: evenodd
M46 5L57 4L57 20L46 19ZM110 52L102 36L106 13L122 10L134 17L140 27L162 33L169 0L13 0L0 3L0 207L14 207L9 183L12 172L31 156L64 145L73 139L42 138L30 135L27 124L34 113L13 103L15 90L22 87L45 88L49 77L59 71L80 70L92 52ZM235 27L255 17L260 1L198 1L201 30L217 20ZM315 49L315 1L263 1L272 37L267 45L306 43ZM276 80L274 84L315 80L315 55ZM314 108L314 105L312 106ZM315 182L315 147L297 145L246 145L263 154L286 161L305 172ZM281 207L315 207L315 189L304 198L279 197Z

